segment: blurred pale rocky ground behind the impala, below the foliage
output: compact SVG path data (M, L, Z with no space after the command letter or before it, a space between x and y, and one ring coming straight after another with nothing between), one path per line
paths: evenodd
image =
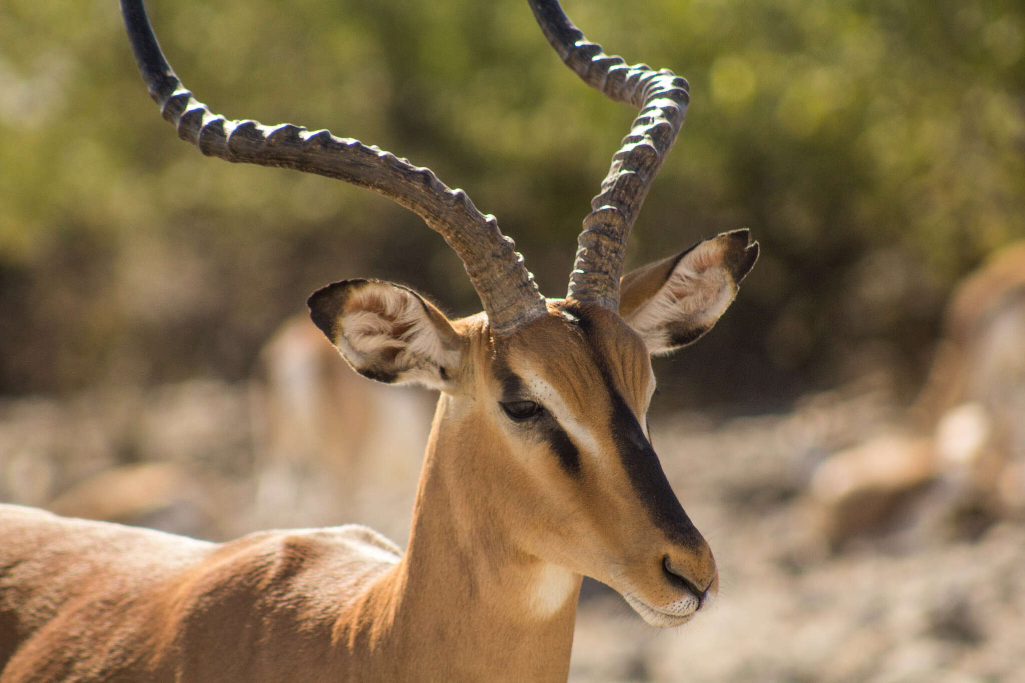
M571 680L1025 682L1025 525L965 532L939 481L900 501L883 531L839 545L823 533L807 495L816 465L895 415L885 391L860 387L787 415L653 421L722 590L691 624L659 631L586 585ZM216 382L7 400L0 500L231 538L275 515L258 502L273 463L257 422L251 387ZM407 523L403 484L386 492L401 512L377 527Z

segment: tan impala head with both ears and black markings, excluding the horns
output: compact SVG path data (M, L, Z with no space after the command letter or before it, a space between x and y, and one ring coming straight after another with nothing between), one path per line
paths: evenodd
M387 283L335 283L314 322L363 375L445 392L436 438L524 551L622 593L651 624L681 624L717 589L715 562L649 440L650 357L707 331L757 255L746 230L623 279L620 310L549 299L496 335Z

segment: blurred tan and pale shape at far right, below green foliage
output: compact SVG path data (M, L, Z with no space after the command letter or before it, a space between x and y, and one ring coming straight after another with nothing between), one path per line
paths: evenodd
M946 336L914 405L881 436L833 453L808 497L834 548L893 528L912 502L925 535L974 538L1025 516L1025 243L957 288ZM915 497L932 481L934 494ZM928 509L931 508L931 509Z

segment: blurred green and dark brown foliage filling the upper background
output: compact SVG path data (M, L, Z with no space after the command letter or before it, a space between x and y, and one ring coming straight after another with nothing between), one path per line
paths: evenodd
M608 51L691 82L629 263L740 226L763 244L735 309L664 369L685 403L764 408L873 367L914 377L952 284L1025 237L1020 2L565 7ZM150 11L215 112L328 127L432 167L498 216L545 294L565 291L633 113L562 66L525 2ZM416 216L175 139L120 22L113 0L0 5L0 393L244 377L309 291L346 276L477 310Z

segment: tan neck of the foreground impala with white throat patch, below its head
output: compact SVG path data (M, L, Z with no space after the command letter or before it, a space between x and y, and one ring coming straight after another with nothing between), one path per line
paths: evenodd
M492 498L507 497L510 482L496 481L480 421L460 429L457 413L443 393L409 547L379 587L386 608L377 616L392 622L379 644L391 649L394 639L438 680L565 681L580 577L516 547L512 520ZM466 433L479 440L467 444Z

